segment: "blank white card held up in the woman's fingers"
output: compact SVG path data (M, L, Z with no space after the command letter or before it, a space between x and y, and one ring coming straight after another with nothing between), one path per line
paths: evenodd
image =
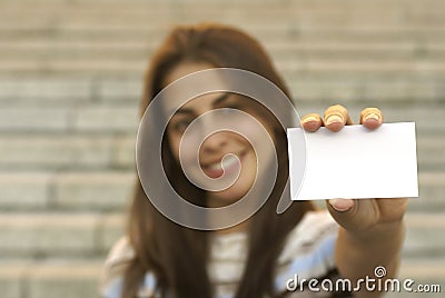
M287 138L293 200L418 197L414 122L338 132L289 128Z

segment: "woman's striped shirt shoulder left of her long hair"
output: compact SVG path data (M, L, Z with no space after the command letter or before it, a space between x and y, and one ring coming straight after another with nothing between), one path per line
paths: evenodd
M127 237L120 238L111 247L105 261L100 280L102 297L118 297L125 270L134 257L135 251Z

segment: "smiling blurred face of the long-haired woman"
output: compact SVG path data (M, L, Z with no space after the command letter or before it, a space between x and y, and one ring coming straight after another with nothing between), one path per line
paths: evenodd
M212 67L206 63L181 63L169 73L165 83L167 86L191 72L209 68ZM178 106L180 103L175 100L167 100L164 105L166 111L175 110ZM226 206L243 198L257 179L256 153L267 157L266 160L261 160L266 163L273 153L268 152L267 146L261 146L264 128L246 121L246 117L233 110L211 112L221 108L238 109L261 121L251 100L236 93L212 92L194 98L181 106L167 127L170 150L177 161L180 160L188 178L201 188L215 190L208 192L209 207ZM197 118L201 120L192 122ZM186 131L190 123L192 127ZM235 125L239 130L246 131L250 141L240 133L221 130L225 125ZM270 131L267 132L270 136ZM221 178L221 181L218 181L218 178ZM226 178L231 182L226 183ZM221 187L218 186L219 182Z

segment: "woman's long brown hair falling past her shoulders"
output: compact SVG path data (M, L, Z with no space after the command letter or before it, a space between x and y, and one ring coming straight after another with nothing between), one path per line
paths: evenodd
M155 53L145 80L140 111L165 87L166 77L184 61L205 62L215 67L238 68L255 72L273 81L288 97L289 91L275 70L261 46L238 29L219 24L177 27ZM248 228L248 258L236 294L237 298L263 297L274 292L275 264L287 234L303 215L313 209L308 201L293 202L281 215L277 202L288 179L286 133L279 122L269 117L268 125L276 135L279 153L278 177L269 199L251 218ZM170 181L180 186L189 198L206 197L181 175L172 158L167 138L162 141L162 161ZM166 198L168 199L168 198ZM137 180L128 217L128 235L135 258L125 272L122 298L135 297L145 274L157 278L157 289L174 297L211 297L212 287L207 276L208 231L181 227L165 218L147 199Z

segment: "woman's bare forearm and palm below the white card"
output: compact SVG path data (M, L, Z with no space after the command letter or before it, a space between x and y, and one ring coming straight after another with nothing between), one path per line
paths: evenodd
M405 208L406 199L355 200L347 211L337 211L329 203L330 213L342 225L335 252L342 277L350 279L353 285L366 276L377 280L382 274L376 276L375 270L380 266L386 270L382 285L386 278L395 277L404 238ZM379 296L377 290L369 291L362 282L359 297ZM369 286L373 285L377 282Z

